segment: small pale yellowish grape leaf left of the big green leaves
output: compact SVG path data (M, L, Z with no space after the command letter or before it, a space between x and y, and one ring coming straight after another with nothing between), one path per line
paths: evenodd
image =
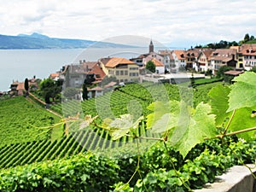
M117 140L120 137L124 137L128 132L136 130L142 119L143 116L134 122L131 114L123 114L112 121L109 119L105 120L104 124L110 123L108 129L111 131L112 139Z

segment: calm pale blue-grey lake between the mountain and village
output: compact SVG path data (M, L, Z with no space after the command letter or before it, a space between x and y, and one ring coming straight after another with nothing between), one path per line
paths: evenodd
M97 61L101 57L131 58L148 53L148 48L89 48L89 49L0 49L0 91L9 90L15 81L49 77L62 66L79 60Z

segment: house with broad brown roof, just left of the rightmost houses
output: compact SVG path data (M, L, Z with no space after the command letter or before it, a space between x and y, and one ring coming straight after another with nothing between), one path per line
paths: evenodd
M217 74L220 67L228 66L236 68L236 49L216 49L211 54L211 67L212 73Z

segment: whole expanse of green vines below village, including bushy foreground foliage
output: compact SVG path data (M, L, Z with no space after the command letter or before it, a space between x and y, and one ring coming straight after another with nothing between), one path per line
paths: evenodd
M141 161L141 172L134 173L134 178L129 180L134 188L124 185L124 191L142 192L144 187L149 191L161 191L166 189L166 185L170 189L166 191L188 191L189 188L181 183L181 178L194 189L200 188L202 183L212 182L224 169L243 162L252 162L255 143L243 143L236 137L231 137L196 145L186 158L172 146L168 146L169 152L166 153L162 143L142 138L161 137L160 133L148 129L146 117L152 113L152 105L151 109L148 106L156 101L177 103L180 100L197 106L200 102L210 101L212 95L208 95L208 92L212 87L219 85L216 90L229 89L224 86L220 88L221 84L223 83L204 84L195 89L183 84L127 84L119 90L110 91L104 96L88 101L68 100L52 105L51 110L63 116L63 124L54 129L51 125L58 124L60 118L31 99L15 97L1 101L0 138L3 143L0 145L0 179L3 183L0 180L0 190L44 191L42 189L45 188L74 191L76 188L78 191L119 191L113 189L119 189L119 185L130 179L137 170L137 160ZM124 113L131 113L135 119L143 115L143 120L132 133L139 138L124 136L113 140L113 131L102 129L101 125L106 119L116 119ZM87 126L79 121L64 124L70 117L84 119L87 114L92 118L98 115L95 124ZM230 124L232 129L234 124ZM56 137L60 134L61 137ZM122 132L121 134L125 135ZM140 151L145 148L145 154L141 157L136 151L137 142L140 143ZM156 145L153 145L154 143ZM95 153L92 155L90 151ZM172 154L172 164L168 153ZM104 154L107 157L109 155L111 158L102 159L95 154ZM113 159L114 156L118 158ZM237 156L241 156L243 160ZM51 166L47 166L48 163ZM95 166L90 166L90 163ZM87 168L86 172L82 171L82 165L84 168L90 168ZM180 173L174 172L174 166ZM117 180L106 177L106 169L108 174ZM9 172L19 176L14 178ZM60 173L55 176L52 172ZM23 173L29 176L22 175ZM106 180L98 181L94 174L101 174L101 179L104 177ZM26 179L26 182L22 179ZM9 183L9 186L4 183Z

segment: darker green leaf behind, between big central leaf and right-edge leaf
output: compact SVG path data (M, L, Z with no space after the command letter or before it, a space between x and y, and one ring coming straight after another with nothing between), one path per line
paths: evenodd
M229 108L229 94L230 87L224 85L218 85L213 87L212 90L209 91L208 96L210 96L211 101L210 104L212 106L212 113L216 115L216 125L222 125L224 119L228 116L226 113Z

